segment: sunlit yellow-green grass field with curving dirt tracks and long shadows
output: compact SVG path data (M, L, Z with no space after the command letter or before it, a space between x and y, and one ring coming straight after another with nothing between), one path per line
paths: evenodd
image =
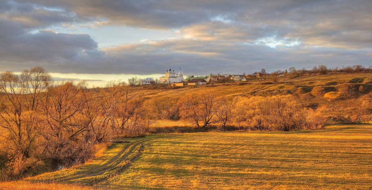
M150 135L28 181L123 189L371 189L372 125Z

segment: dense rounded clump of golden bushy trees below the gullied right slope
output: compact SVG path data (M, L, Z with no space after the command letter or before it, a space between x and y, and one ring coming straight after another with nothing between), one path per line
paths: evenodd
M237 110L239 126L258 130L317 129L327 119L323 108L304 108L292 95L241 98Z

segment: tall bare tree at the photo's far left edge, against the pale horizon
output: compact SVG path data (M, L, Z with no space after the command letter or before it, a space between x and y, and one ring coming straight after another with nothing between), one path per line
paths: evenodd
M30 159L37 156L35 151L42 130L38 126L36 113L27 110L27 87L19 75L10 71L1 73L0 93L0 127L6 131L1 134L5 139L1 145L13 160L10 167L16 173L22 173L26 167L38 161L36 158L30 162Z

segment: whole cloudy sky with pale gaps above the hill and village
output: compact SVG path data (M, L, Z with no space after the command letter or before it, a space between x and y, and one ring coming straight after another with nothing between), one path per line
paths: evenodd
M55 80L372 65L371 0L1 0L0 71Z

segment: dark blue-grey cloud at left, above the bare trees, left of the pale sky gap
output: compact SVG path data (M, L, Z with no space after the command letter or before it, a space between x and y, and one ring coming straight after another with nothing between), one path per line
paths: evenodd
M53 30L28 33L7 20L0 20L0 25L4 27L0 29L0 64L6 67L3 70L20 71L29 65L41 65L51 72L76 73L85 67L97 68L97 64L102 69L101 64L108 60L88 34Z

